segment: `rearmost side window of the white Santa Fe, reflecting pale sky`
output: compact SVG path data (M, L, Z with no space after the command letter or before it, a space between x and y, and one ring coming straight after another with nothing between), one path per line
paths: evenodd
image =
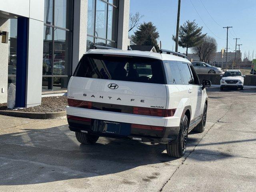
M180 76L180 69L176 61L168 61L166 66L168 79L171 84L182 85L182 79Z

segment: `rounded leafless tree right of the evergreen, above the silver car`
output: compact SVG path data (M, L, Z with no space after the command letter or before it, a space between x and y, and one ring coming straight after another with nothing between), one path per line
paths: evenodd
M192 52L198 54L200 61L210 62L217 50L217 41L215 38L206 36L202 43L192 48Z

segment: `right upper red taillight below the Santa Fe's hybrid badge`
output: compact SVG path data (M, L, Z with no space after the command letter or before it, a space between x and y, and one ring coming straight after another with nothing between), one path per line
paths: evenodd
M133 114L148 115L158 117L172 117L174 116L176 109L156 109L146 107L133 107Z

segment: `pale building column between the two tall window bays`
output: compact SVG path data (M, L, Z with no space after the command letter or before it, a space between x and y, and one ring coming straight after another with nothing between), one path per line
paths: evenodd
M88 0L74 1L74 28L73 28L73 50L72 50L72 74L76 66L86 52L87 40L87 9Z

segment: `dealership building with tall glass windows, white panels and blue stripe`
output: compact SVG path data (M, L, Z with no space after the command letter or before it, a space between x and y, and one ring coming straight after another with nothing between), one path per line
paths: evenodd
M130 0L0 0L0 103L16 107L66 92L94 45L127 50Z

